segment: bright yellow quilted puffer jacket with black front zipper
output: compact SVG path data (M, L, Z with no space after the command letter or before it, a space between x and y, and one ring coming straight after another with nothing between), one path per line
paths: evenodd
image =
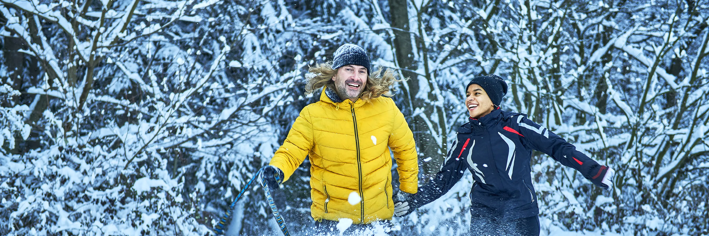
M320 101L303 108L270 164L288 180L309 156L313 218L367 224L393 215L389 148L401 191L416 193L415 142L396 104L383 96L335 103L323 89Z

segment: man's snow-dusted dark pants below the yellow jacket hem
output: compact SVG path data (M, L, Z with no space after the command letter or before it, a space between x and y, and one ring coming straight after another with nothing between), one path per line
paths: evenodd
M313 224L312 229L310 232L306 232L306 235L315 235L315 236L338 236L340 235L340 229L337 228L337 224L340 223L335 220L322 220L320 222L316 221ZM341 225L341 227L344 225ZM369 224L361 224L361 225L350 225L350 227L347 227L347 229L342 232L343 236L367 236L367 235L375 235L379 234L381 235L381 232L386 233L386 235L392 235L393 232L391 230L391 227L393 227L393 224L391 223L391 220L380 220L374 223L369 223Z

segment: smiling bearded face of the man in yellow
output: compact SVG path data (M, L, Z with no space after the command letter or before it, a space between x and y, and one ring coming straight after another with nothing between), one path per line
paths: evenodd
M364 85L367 84L367 67L356 64L344 65L337 68L337 74L333 77L333 81L340 99L356 101L359 94L364 91Z

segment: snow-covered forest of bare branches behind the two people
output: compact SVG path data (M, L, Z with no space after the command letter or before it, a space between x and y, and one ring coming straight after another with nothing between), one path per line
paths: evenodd
M308 65L361 45L420 179L466 119L464 84L506 78L529 114L616 171L602 191L535 153L542 235L709 235L709 1L0 0L0 235L206 235L267 164ZM311 223L308 162L281 188ZM471 178L401 235L464 235ZM256 186L228 235L278 235Z

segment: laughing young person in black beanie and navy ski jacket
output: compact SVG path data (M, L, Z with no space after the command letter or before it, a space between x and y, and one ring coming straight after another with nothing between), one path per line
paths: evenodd
M530 169L532 150L544 152L581 172L591 183L613 188L610 167L598 164L551 130L523 113L500 109L507 83L494 74L475 77L466 86L468 122L458 128L440 172L418 193L399 191L394 215L413 212L449 191L468 169L471 235L539 235L539 208Z

